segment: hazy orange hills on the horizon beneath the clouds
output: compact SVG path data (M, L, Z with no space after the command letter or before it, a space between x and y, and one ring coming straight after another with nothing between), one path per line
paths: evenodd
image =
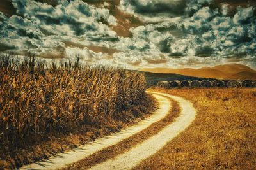
M201 78L221 78L225 79L234 74L240 72L247 72L247 73L256 73L255 70L251 69L248 66L244 66L242 64L223 64L214 67L202 67L200 69L171 69L171 68L145 68L140 69L140 71L145 72L152 72L152 73L173 73L173 74L180 74L184 76L193 76L193 77L201 77ZM243 74L245 79L246 73ZM242 75L241 75L242 76Z

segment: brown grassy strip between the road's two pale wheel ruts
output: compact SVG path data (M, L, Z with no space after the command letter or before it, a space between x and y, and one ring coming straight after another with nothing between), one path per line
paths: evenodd
M147 129L138 132L137 134L134 134L130 138L127 138L120 143L117 143L116 145L109 146L108 148L101 150L100 152L97 152L90 157L86 157L79 162L70 164L64 169L88 169L89 167L100 164L101 162L104 162L108 159L116 157L117 155L127 152L138 143L141 143L150 138L151 136L157 134L164 127L166 127L166 125L171 124L175 120L175 118L179 116L179 103L172 99L170 99L170 101L172 101L172 109L170 110L170 113L162 120L150 125L150 127L148 127Z

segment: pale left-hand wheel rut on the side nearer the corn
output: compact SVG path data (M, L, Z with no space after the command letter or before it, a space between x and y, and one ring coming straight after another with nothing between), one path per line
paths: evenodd
M115 145L116 143L129 138L133 134L146 129L154 122L158 122L162 118L166 117L166 115L169 113L169 110L171 109L171 103L168 98L160 96L157 93L152 94L159 102L159 109L154 111L150 117L141 120L141 122L138 124L128 127L127 129L124 129L115 134L99 138L69 152L60 153L47 160L42 160L40 162L22 166L20 169L59 169L67 166L67 164L71 164L84 159L85 157L88 157L89 155L92 155L93 153L98 152L108 146Z

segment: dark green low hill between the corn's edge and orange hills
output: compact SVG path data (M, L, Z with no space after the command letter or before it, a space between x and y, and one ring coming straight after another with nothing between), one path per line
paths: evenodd
M143 72L143 71L141 71ZM173 73L151 73L143 72L147 81L147 86L157 85L158 81L173 81L173 80L205 80L205 78L197 78L193 76L182 76ZM207 78L207 80L214 80L212 78Z

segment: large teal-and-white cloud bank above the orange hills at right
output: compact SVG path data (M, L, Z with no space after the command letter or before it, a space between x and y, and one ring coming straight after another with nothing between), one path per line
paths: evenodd
M227 4L223 4L223 8L227 8ZM220 11L204 6L179 22L161 22L131 29L133 37L125 42L132 48L140 43L136 45L140 47L137 50L144 52L157 47L166 56L168 66L173 66L173 63L203 65L209 61L232 62L236 59L236 62L255 67L255 9L239 7L232 17L227 16L223 8ZM173 32L182 36L175 36ZM148 44L154 48L145 48ZM246 62L248 58L250 63Z

